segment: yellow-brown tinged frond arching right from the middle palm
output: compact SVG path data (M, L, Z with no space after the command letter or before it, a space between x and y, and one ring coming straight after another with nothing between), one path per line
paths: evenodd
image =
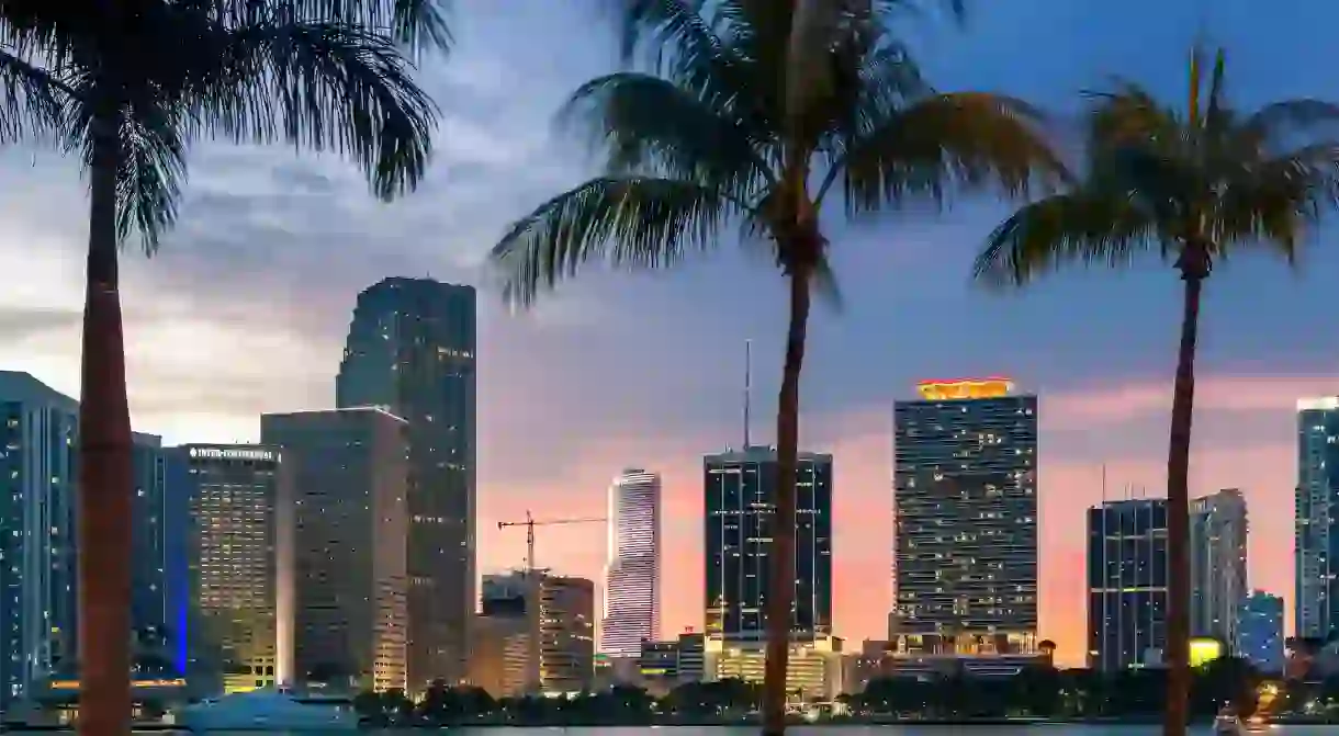
M1024 194L1069 178L1028 104L983 92L936 95L894 111L854 142L818 191L837 178L849 215L908 197L943 202L951 186L999 185Z

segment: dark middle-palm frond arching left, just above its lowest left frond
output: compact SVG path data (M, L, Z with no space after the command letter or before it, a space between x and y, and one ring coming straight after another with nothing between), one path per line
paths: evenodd
M668 79L619 72L582 84L560 112L605 149L616 174L656 173L749 198L773 181L753 131ZM761 131L766 134L766 131Z

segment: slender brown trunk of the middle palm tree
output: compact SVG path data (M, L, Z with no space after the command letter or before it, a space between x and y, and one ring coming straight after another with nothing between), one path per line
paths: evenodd
M777 401L777 514L771 527L771 579L767 590L767 668L762 693L763 736L786 731L786 666L790 660L791 609L795 601L795 466L799 455L799 369L809 329L809 276L790 273L790 329L786 365Z

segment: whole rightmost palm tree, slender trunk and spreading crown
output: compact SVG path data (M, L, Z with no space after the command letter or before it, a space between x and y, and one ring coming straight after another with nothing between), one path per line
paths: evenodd
M1204 281L1214 261L1244 249L1292 262L1339 186L1339 145L1314 135L1339 123L1339 107L1287 100L1235 110L1223 51L1208 80L1202 58L1196 47L1184 110L1125 80L1089 94L1083 181L1006 219L976 262L980 278L1023 285L1073 262L1125 266L1154 253L1170 260L1184 282L1168 443L1169 736L1185 733L1189 688L1188 474Z

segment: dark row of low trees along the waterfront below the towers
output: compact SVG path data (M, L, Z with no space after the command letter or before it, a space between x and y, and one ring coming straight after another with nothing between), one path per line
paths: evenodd
M1193 670L1189 711L1209 719L1231 703L1256 709L1267 678L1245 660L1223 657ZM1320 682L1279 682L1269 708L1277 717L1339 720L1339 677ZM822 720L1156 720L1166 703L1166 670L1024 668L1014 676L894 676L872 680L861 693L836 704L809 704ZM1331 705L1332 704L1332 705ZM754 720L762 688L740 680L686 682L663 697L616 685L572 697L494 699L482 688L435 684L418 703L400 691L364 692L355 703L375 725L631 725L653 723L738 723Z

